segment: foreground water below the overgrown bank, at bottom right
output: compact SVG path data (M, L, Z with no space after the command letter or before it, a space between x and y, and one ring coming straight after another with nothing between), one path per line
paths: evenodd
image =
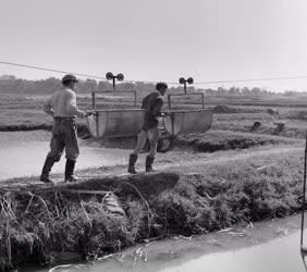
M304 272L299 223L300 217L294 215L253 227L194 237L175 236L140 244L94 263L59 267L54 271Z

